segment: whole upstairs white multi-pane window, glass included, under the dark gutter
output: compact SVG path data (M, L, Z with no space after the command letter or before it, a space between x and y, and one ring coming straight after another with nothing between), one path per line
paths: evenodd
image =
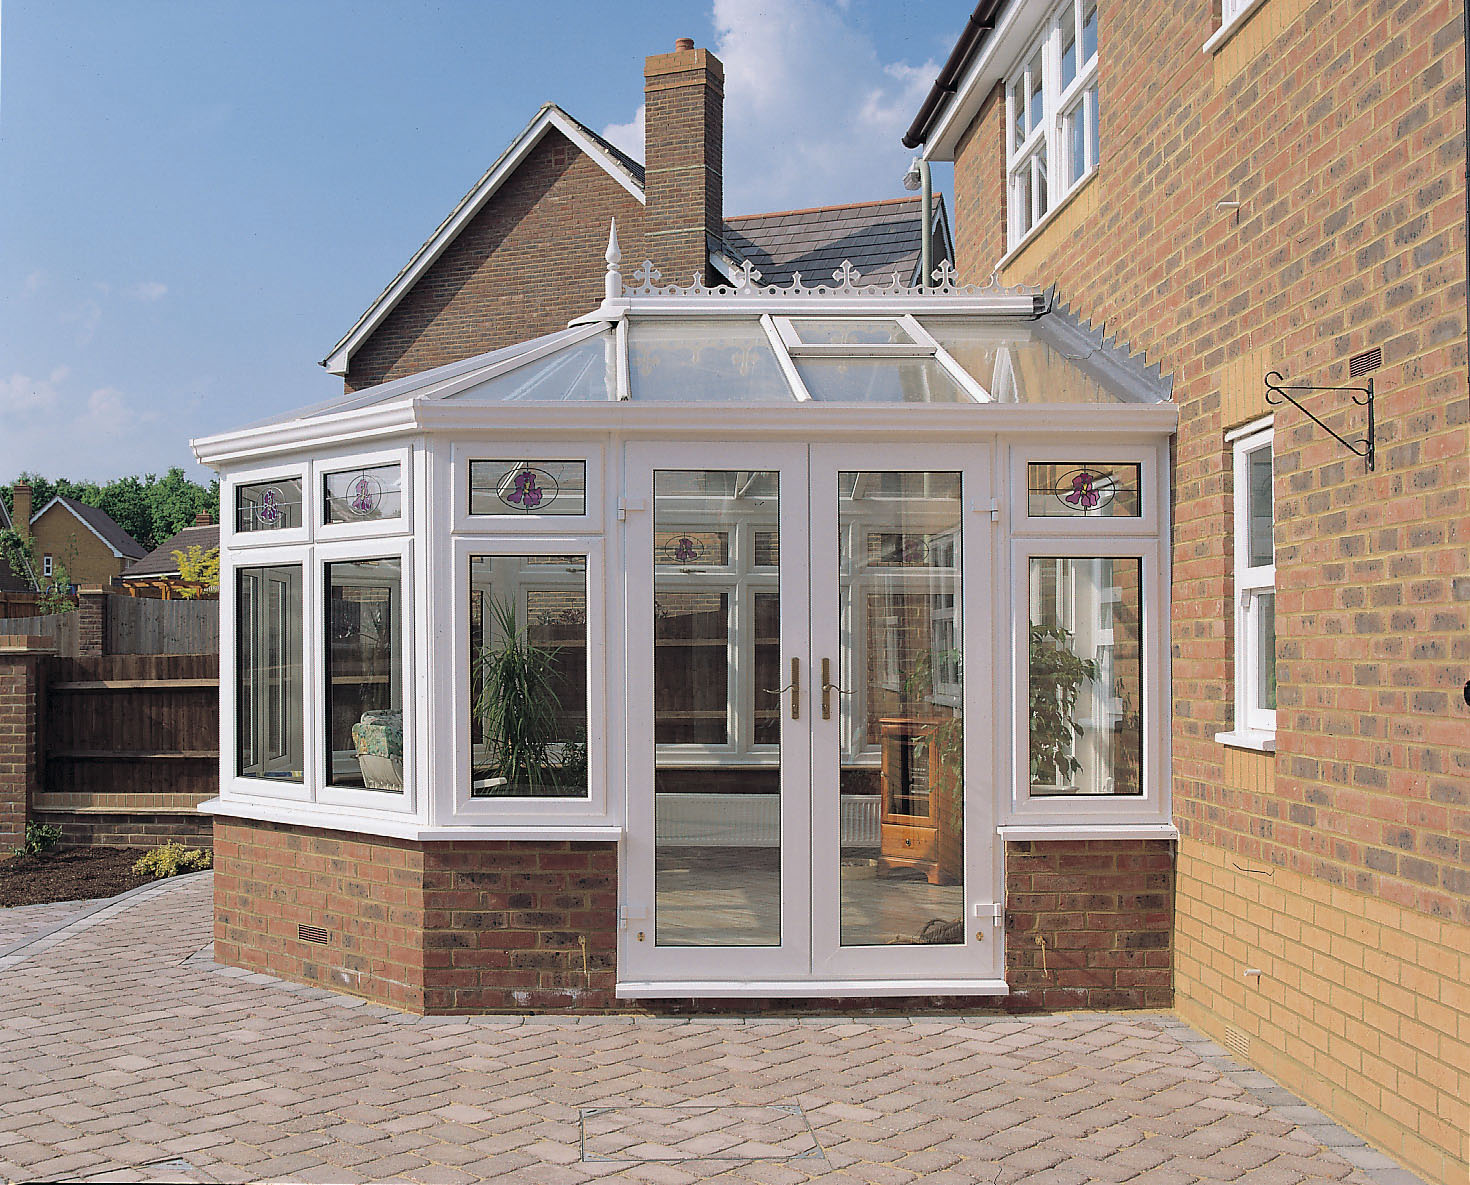
M1010 246L1098 163L1098 6L1066 0L1005 85Z

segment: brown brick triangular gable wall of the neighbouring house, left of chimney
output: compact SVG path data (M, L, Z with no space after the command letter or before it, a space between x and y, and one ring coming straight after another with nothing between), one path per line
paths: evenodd
M548 129L353 354L347 390L564 329L603 300L613 218L631 275L650 256L642 203Z

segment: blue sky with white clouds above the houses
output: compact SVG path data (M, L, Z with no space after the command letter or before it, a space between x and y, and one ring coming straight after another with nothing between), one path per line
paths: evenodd
M676 37L725 60L726 213L897 197L970 7L0 3L0 481L204 476L191 437L337 394L316 363L542 101L642 156Z

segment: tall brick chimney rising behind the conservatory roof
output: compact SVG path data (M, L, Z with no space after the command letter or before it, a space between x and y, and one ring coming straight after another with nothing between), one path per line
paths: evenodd
M725 66L681 37L644 62L644 226L664 284L713 284L725 222Z

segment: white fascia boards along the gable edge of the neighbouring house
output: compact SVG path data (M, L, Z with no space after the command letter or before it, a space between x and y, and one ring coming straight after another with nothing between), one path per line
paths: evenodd
M413 288L415 284L423 276L423 273L434 266L434 262L444 254L448 246L459 237L459 232L465 225L475 218L494 197L495 191L510 178L512 173L520 163L526 159L532 148L541 143L541 138L547 134L548 128L556 128L562 135L570 140L578 148L581 148L592 162L603 166L603 171L613 178L619 185L622 185L632 197L639 203L647 203L647 196L642 187L603 148L601 144L591 140L587 132L584 132L575 122L572 122L560 107L548 103L537 116L526 125L525 131L512 141L510 147L501 153L500 160L497 160L481 179L479 184L470 190L463 198L460 198L459 206L450 213L440 228L429 237L429 240L419 247L413 259L404 266L401 272L392 279L392 282L382 291L382 294L375 300L347 331L347 335L332 347L332 351L322 360L322 366L332 375L345 375L347 366L351 362L353 353L357 347L368 340L368 337L376 329L384 318L391 313L400 300Z

